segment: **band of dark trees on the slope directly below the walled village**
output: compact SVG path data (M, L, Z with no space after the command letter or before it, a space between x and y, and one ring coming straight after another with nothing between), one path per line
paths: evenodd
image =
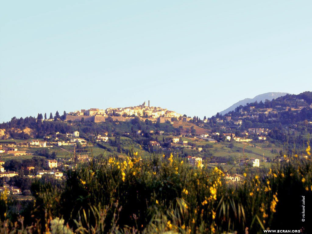
M70 123L70 124L69 124ZM81 136L89 134L103 134L108 132L115 135L122 135L124 133L131 133L134 137L137 130L141 130L144 136L149 136L151 130L155 133L159 131L165 131L167 133L173 133L178 129L175 129L172 124L168 123L152 123L150 120L141 121L138 117L135 117L131 121L115 122L111 118L108 118L104 123L94 123L91 121L82 122L63 122L63 121L42 121L32 116L26 118L17 119L13 117L9 122L0 124L0 129L5 129L7 134L14 139L29 139L31 136L21 130L30 128L33 130L32 137L43 138L46 135L66 134L67 132L73 132L79 130ZM19 129L19 130L18 130ZM61 138L61 134L59 138Z

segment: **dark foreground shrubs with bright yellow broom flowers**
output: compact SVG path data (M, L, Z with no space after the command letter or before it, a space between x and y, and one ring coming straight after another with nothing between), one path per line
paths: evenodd
M237 184L217 167L193 167L172 154L99 157L69 170L66 180L34 182L32 202L17 204L2 194L0 232L242 233L248 227L262 233L281 224L298 230L298 202L312 190L309 148L307 153L307 159L288 155L289 162L268 171L246 168Z

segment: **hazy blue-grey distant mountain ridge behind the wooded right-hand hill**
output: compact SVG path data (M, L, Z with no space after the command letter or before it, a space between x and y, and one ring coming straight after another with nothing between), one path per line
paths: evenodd
M233 104L232 106L230 106L229 108L225 109L225 110L222 110L220 112L221 115L224 115L224 114L227 114L229 111L232 111L232 110L235 110L235 108L237 106L240 106L240 105L246 105L247 103L251 103L251 102L260 102L260 101L265 101L265 100L272 100L272 99L275 99L275 98L278 98L278 97L281 97L281 96L285 96L289 93L281 93L281 92L269 92L269 93L264 93L264 94L260 94L260 95L257 95L255 96L254 98L245 98L244 100L240 100L238 102L236 102L235 104Z

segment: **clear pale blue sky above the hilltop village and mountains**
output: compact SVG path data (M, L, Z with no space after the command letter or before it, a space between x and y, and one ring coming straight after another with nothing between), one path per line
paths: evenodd
M311 1L2 1L0 122L311 90Z

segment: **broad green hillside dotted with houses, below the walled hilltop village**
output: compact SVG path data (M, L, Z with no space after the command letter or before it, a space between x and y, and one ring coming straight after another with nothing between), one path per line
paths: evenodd
M171 121L164 123L139 117L128 121L107 118L107 121L101 123L87 120L12 118L11 121L0 124L0 137L5 142L16 142L14 147L17 147L17 151L24 152L24 156L29 158L31 155L71 157L76 147L79 153L93 153L95 156L128 155L130 148L135 148L142 149L144 156L156 152L172 152L183 157L198 156L217 163L232 164L240 156L262 156L262 160L266 161L267 158L275 159L279 151L284 150L285 142L296 145L298 151L306 145L306 139L312 133L311 102L312 92L287 94L271 101L240 105L235 111L225 115L188 121L170 118ZM79 132L80 139L71 138L73 131ZM104 135L107 136L105 142L97 141L98 137ZM180 142L174 142L173 138L178 138ZM36 148L27 148L32 139L45 141L48 149L42 153ZM246 142L249 142L248 146ZM13 146L4 145L4 148L9 147ZM88 147L92 147L92 151ZM13 154L14 152L4 152L0 157L12 159L15 158Z

